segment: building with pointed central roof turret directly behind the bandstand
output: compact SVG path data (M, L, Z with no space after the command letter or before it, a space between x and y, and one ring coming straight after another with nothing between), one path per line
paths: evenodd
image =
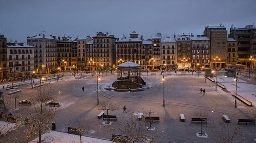
M143 36L138 37L138 34L133 31L129 38L123 36L122 39L115 41L117 46L117 63L122 61L132 61L136 64L141 64L141 43Z

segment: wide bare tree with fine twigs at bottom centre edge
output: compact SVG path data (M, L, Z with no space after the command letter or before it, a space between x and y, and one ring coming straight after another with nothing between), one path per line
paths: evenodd
M144 142L149 141L150 143L155 143L154 137L149 132L149 129L146 128L147 123L143 119L137 121L137 118L133 113L131 114L128 120L125 120L118 124L118 128L110 128L108 131L114 131L118 134L112 134L112 141L117 143L135 143L135 142ZM150 140L149 140L150 139Z

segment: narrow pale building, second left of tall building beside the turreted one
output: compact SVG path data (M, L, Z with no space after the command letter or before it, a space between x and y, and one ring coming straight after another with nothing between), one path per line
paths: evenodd
M91 41L92 38L90 36L86 37L78 37L77 41L77 67L82 70L86 67L86 52L85 52L85 44L88 41Z

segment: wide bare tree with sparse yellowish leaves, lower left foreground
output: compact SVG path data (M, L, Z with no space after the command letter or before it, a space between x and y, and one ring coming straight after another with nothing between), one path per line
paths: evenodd
M40 112L39 112L40 111ZM23 114L17 115L17 119L27 125L26 130L22 132L21 137L26 139L31 136L39 136L41 143L41 134L50 130L50 124L60 114L58 107L44 106L43 108L33 105L24 110Z

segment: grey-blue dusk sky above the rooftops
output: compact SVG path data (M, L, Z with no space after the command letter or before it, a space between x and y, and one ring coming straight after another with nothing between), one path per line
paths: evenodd
M7 40L27 36L121 38L134 30L145 38L155 32L202 35L205 26L256 25L256 0L0 0L0 33Z

